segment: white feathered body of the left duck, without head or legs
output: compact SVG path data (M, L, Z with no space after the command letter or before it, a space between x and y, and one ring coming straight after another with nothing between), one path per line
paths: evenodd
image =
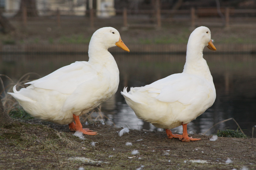
M71 123L73 114L87 113L116 93L119 84L117 65L113 62L105 66L75 62L28 82L30 86L15 91L12 96L35 118Z

